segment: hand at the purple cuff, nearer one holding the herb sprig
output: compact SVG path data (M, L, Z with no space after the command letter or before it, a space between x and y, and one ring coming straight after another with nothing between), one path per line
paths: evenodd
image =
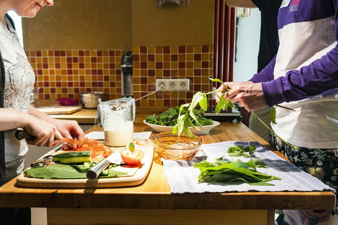
M226 92L225 97L232 103L238 102L240 107L244 107L248 111L255 111L267 106L262 83L238 85Z

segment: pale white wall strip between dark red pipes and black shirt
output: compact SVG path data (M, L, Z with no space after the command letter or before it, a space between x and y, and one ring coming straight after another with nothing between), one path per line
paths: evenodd
M240 18L237 30L237 52L234 81L247 81L257 73L261 32L261 12L251 9L251 17Z

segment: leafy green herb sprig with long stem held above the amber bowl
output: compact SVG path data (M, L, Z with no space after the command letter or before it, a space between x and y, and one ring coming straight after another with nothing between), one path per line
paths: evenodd
M194 94L193 98L192 98L192 102L188 103L188 104L184 104L181 105L180 109L179 109L179 114L178 114L178 118L177 118L177 124L173 127L172 129L172 133L176 134L178 132L178 136L181 136L183 132L185 132L186 134L189 135L189 137L194 139L194 135L191 133L191 131L189 130L188 126L193 127L196 130L199 130L199 128L197 127L202 127L201 124L197 121L196 117L194 116L193 110L195 109L195 107L199 104L200 107L204 110L207 111L208 110L208 101L207 101L207 94L212 94L215 92L219 92L219 91L225 91L224 93L222 93L219 102L216 105L216 114L218 114L220 112L221 109L223 109L223 111L227 108L230 107L232 109L236 109L234 104L230 102L230 100L225 98L225 93L226 91L230 91L232 89L227 89L226 85L220 80L220 79L211 79L209 78L211 81L213 82L219 82L222 83L224 90L216 90L216 91L212 91L212 92L201 92L198 91L196 94ZM285 108L285 109L289 109L292 111L295 111L293 109L284 107L284 106L280 106L280 105L276 105L278 107L281 108ZM182 109L184 107L188 107L188 110L186 111L186 113L181 115ZM260 119L257 114L255 114L254 112L250 111L252 114L255 115L255 118L258 118L265 126L267 129L269 129L274 135L276 135L273 130L266 125L262 119ZM195 124L192 124L192 122L190 121L188 114L191 116L191 118L195 121ZM276 109L275 107L272 107L271 111L270 111L270 119L271 121L276 124ZM276 135L276 137L280 138L278 135ZM281 138L280 138L281 139ZM284 143L286 143L287 145L289 145L291 148L293 148L292 145L288 144L286 141L284 141L283 139L281 139Z

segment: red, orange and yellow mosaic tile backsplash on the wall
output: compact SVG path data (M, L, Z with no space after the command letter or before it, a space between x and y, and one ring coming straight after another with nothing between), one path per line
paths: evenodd
M69 97L80 92L103 91L106 100L121 97L122 50L26 51L40 87L41 99ZM158 91L137 106L178 106L190 102L197 91L212 90L212 46L134 46L133 95L155 90L155 79L189 79L190 91ZM210 96L208 96L210 97Z

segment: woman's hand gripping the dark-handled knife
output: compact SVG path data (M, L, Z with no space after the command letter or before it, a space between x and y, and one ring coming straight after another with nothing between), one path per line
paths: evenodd
M26 139L27 144L51 147L56 146L62 140L62 135L54 124L35 116L27 115L26 117L29 118L23 129L35 137L33 140Z

